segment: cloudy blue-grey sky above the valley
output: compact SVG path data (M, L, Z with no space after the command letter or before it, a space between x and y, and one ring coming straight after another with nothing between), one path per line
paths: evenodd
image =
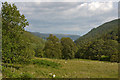
M15 2L31 32L84 35L118 18L117 2Z

